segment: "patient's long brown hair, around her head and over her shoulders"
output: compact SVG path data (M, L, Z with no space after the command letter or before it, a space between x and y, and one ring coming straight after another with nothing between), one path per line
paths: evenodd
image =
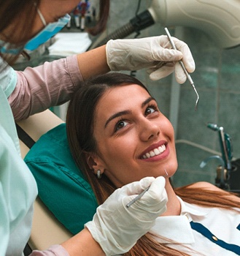
M98 146L93 138L94 118L96 115L96 105L107 89L114 86L123 86L128 84L138 84L144 89L147 88L136 78L120 73L109 73L92 78L82 82L80 89L74 93L69 103L69 109L66 117L66 128L69 140L71 153L77 163L77 166L82 170L88 179L93 191L96 195L99 204L109 197L116 189L115 185L103 174L101 179L96 178L93 170L88 167L85 153L97 153ZM175 189L177 195L182 197L187 203L196 203L207 207L220 208L239 208L239 203L229 200L230 193L214 192L206 189L193 189L191 187L182 187ZM182 245L182 248L186 246ZM185 252L180 252L176 249L171 249L165 244L160 244L155 240L155 236L151 233L140 238L133 248L125 253L131 256L179 256L187 255Z

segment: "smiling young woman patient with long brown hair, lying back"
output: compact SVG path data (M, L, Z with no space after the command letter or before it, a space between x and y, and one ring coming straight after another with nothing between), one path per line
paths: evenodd
M110 73L86 81L70 101L66 127L99 204L146 176L166 179L166 211L125 255L240 255L239 197L206 182L171 186L174 129L139 80Z

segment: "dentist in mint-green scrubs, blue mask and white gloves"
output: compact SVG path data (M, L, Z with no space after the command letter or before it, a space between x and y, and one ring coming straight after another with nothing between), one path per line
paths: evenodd
M23 255L31 233L33 203L37 195L34 177L20 157L15 120L68 101L80 80L110 70L147 68L150 78L155 80L175 72L177 81L184 83L186 77L177 61L182 59L188 72L195 69L187 45L174 39L179 50L173 50L165 36L110 40L100 48L39 67L29 67L23 72L10 67L24 49L34 50L60 31L69 21L66 13L78 2L0 0L0 255ZM109 1L101 1L101 4L107 3ZM158 178L144 178L126 185L112 195L115 200L109 197L98 207L92 221L92 233L85 227L69 241L51 246L44 252L34 251L32 255L128 252L166 209L167 198L158 196L160 184ZM150 189L140 203L134 204L134 213L131 214L125 204L148 186ZM113 219L116 214L118 218ZM131 227L125 219L132 223ZM93 233L101 235L93 239ZM119 233L124 233L125 237L121 238Z

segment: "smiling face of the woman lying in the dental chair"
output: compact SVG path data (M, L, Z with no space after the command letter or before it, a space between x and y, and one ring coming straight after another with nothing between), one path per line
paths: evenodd
M105 92L96 108L93 135L96 167L117 187L146 176L166 176L166 171L172 176L177 170L174 129L141 86Z

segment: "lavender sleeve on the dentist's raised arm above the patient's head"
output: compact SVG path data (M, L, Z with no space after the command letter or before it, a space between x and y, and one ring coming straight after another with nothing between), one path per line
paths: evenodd
M17 84L8 100L16 121L67 102L82 80L77 56L15 72Z

